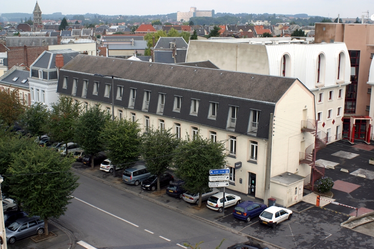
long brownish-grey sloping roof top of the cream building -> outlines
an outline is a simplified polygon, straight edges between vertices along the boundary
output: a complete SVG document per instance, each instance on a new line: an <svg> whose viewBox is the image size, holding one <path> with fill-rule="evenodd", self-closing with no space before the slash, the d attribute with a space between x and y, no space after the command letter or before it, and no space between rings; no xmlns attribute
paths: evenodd
<svg viewBox="0 0 374 249"><path fill-rule="evenodd" d="M61 71L116 75L125 80L233 96L269 104L277 103L297 80L288 77L129 61L84 54L75 56Z"/></svg>

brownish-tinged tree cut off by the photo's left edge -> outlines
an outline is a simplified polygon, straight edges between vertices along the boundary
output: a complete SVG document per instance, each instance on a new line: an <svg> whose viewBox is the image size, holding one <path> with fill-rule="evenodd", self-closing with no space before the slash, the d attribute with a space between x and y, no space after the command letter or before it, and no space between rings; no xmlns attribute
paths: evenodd
<svg viewBox="0 0 374 249"><path fill-rule="evenodd" d="M25 105L19 98L19 89L0 90L0 124L13 125L24 110Z"/></svg>

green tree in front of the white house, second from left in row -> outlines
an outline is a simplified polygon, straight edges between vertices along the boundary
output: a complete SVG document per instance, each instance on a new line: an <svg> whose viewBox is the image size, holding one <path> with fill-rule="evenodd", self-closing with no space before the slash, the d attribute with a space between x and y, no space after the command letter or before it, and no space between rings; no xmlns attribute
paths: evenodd
<svg viewBox="0 0 374 249"><path fill-rule="evenodd" d="M47 133L46 125L49 121L49 111L46 105L37 102L26 108L20 117L20 124L23 129L32 136L40 136Z"/></svg>

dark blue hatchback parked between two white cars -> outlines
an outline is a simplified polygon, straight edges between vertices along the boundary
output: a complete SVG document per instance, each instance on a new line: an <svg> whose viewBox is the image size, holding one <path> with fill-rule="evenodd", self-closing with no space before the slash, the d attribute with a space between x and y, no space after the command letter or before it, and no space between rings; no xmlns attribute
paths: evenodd
<svg viewBox="0 0 374 249"><path fill-rule="evenodd" d="M265 204L247 200L238 204L234 208L232 215L237 219L249 222L251 218L260 215L260 213L262 213L262 211L264 211L265 209L267 209L267 206Z"/></svg>

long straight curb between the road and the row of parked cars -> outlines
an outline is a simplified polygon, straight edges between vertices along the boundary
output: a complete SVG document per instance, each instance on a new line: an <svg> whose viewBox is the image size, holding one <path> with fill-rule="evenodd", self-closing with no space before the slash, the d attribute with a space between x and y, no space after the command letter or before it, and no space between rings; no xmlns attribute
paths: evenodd
<svg viewBox="0 0 374 249"><path fill-rule="evenodd" d="M105 184L108 184L108 185L110 185L111 187L115 187L115 188L120 189L120 190L122 190L122 191L125 191L125 192L127 192L127 193L129 193L129 194L132 194L132 195L134 195L134 196L138 196L138 197L140 197L140 198L146 199L146 200L151 201L151 202L153 202L153 203L155 203L155 204L157 204L157 205L163 206L163 207L165 207L165 208L168 208L168 209L173 210L173 211L178 212L178 213L182 213L182 214L187 215L187 216L189 216L189 217L191 217L191 218L194 218L194 219L196 219L196 220L203 221L203 222L205 222L205 223L207 223L207 224L210 224L210 225L215 226L215 227L217 227L217 228L223 229L223 230L225 230L225 231L230 231L230 232L232 232L232 233L235 233L235 234L238 234L238 235L241 235L241 236L245 236L245 237L248 237L248 238L251 238L251 239L257 240L257 241L259 241L259 242L261 242L261 243L263 243L263 244L270 245L270 246L272 246L272 247L274 247L274 248L277 248L277 249L285 249L285 248L282 248L282 247L280 247L280 246L277 246L277 245L274 245L274 244L272 244L272 243L269 243L269 242L267 242L267 241L263 241L263 240L258 239L258 238L256 238L256 237L253 237L253 236L251 236L251 235L249 235L249 234L243 233L243 232L241 232L241 231L236 231L236 230L234 230L234 229L231 229L231 228L225 227L225 226L223 226L223 225L220 225L220 224L214 223L214 222L212 222L212 221L210 221L210 220L207 220L207 219L205 219L205 218L202 218L202 217L196 216L196 215L194 215L194 214L187 213L187 212L184 212L184 211L182 211L182 210L176 209L176 208L174 208L174 207L168 206L168 205L166 205L166 204L164 204L164 203L162 203L162 202L156 201L156 200L154 200L154 199L152 199L152 198L150 198L150 197L148 197L148 196L142 196L142 195L140 195L140 194L138 194L138 193L135 193L135 192L130 191L130 190L128 190L128 189L122 188L121 186L113 185L111 182L108 182L108 181L103 180L103 179L101 179L101 178L94 177L94 176L92 176L92 175L90 175L90 174L87 174L87 173L85 173L85 172L81 172L81 171L79 171L79 170L77 170L77 169L75 169L75 168L72 168L72 170L75 171L76 173L79 173L79 174L84 175L84 176L86 176L86 177L89 177L89 178L92 178L92 179L95 179L95 180L98 180L98 181L104 182Z"/></svg>

